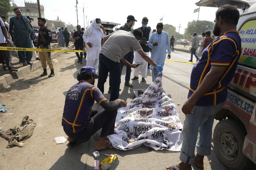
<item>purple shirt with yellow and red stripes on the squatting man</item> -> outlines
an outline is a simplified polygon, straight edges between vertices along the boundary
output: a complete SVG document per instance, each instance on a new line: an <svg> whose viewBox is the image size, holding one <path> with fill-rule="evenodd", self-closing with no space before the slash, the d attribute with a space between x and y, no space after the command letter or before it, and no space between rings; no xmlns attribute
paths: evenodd
<svg viewBox="0 0 256 170"><path fill-rule="evenodd" d="M66 95L62 116L63 128L71 133L82 131L91 118L91 108L95 100L99 104L107 100L98 87L85 80L72 86Z"/></svg>

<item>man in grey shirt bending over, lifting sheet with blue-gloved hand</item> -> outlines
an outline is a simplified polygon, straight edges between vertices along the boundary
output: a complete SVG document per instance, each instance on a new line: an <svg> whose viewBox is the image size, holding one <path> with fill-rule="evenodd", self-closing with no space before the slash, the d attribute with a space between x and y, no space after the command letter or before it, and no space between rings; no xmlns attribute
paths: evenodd
<svg viewBox="0 0 256 170"><path fill-rule="evenodd" d="M157 65L149 56L147 56L139 44L138 40L142 38L142 31L134 29L134 31L115 31L103 38L102 49L99 54L99 80L97 87L104 94L104 83L107 80L109 73L110 77L110 101L118 99L119 87L121 83L121 65L120 61L127 66L136 68L135 64L131 65L124 59L124 55L130 52L133 48L141 57L154 66L159 72L163 71L163 67Z"/></svg>

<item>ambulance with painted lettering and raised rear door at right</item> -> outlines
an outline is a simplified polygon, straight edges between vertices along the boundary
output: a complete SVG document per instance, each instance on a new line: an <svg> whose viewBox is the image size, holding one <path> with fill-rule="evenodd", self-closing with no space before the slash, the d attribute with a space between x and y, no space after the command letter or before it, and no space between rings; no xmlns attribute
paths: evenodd
<svg viewBox="0 0 256 170"><path fill-rule="evenodd" d="M240 19L237 31L242 53L236 73L227 86L225 106L215 119L215 152L228 169L256 169L256 1L201 0L197 6L237 5Z"/></svg>

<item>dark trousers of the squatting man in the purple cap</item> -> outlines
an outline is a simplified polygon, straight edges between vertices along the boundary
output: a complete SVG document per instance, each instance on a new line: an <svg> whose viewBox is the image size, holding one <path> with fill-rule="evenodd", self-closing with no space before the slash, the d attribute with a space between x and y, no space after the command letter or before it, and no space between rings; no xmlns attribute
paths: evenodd
<svg viewBox="0 0 256 170"><path fill-rule="evenodd" d="M71 133L64 129L66 135L73 139L77 143L83 143L89 141L91 136L95 134L99 129L101 130L101 137L114 134L115 119L117 117L117 109L113 111L102 110L95 114L91 119L86 122L85 129L78 133Z"/></svg>

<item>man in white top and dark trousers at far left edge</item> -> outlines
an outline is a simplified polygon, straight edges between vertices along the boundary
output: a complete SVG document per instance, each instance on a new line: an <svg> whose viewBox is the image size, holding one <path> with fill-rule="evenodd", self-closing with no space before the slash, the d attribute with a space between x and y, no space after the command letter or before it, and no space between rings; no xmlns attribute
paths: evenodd
<svg viewBox="0 0 256 170"><path fill-rule="evenodd" d="M8 32L5 28L5 23L3 22L2 18L0 18L0 25L0 46L7 47L7 44L10 43L10 37L8 37ZM8 67L9 72L18 71L11 66L11 56L8 50L0 50L0 63L5 63Z"/></svg>

